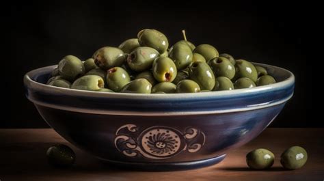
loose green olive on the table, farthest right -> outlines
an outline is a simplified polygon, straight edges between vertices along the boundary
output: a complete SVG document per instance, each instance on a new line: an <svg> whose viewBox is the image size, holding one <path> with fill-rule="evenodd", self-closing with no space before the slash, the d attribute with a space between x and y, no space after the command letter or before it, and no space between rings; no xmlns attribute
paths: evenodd
<svg viewBox="0 0 324 181"><path fill-rule="evenodd" d="M300 146L293 146L285 150L280 159L280 163L285 169L299 169L306 164L308 154Z"/></svg>

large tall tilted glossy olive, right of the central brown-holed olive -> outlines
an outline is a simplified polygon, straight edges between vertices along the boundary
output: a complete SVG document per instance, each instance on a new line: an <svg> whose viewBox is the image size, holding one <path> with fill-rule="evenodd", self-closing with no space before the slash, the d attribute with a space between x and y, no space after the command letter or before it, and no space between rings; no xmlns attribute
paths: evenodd
<svg viewBox="0 0 324 181"><path fill-rule="evenodd" d="M215 86L213 70L202 61L195 61L189 67L189 77L198 83L200 89L212 90Z"/></svg>

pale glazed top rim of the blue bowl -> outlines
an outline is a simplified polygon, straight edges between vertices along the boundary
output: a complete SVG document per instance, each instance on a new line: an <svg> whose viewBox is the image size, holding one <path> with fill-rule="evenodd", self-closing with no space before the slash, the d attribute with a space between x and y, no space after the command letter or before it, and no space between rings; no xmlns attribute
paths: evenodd
<svg viewBox="0 0 324 181"><path fill-rule="evenodd" d="M94 91L87 91L87 90L79 90L79 89L68 89L64 87L55 87L51 85L46 85L44 83L39 83L31 79L33 76L37 76L42 72L49 72L49 70L53 70L57 67L57 65L53 66L46 66L42 68L37 68L35 70L31 70L27 72L24 76L24 83L27 87L33 87L36 89L40 89L42 91L49 91L49 92L59 92L64 95L68 96L92 96L96 98L129 98L129 99L183 99L183 98L206 98L206 97L224 97L224 96L241 96L242 94L253 94L256 92L264 92L270 91L271 89L280 89L282 87L286 87L288 85L293 85L295 83L295 76L294 74L286 70L284 68L280 68L277 66L271 66L268 64L260 64L254 63L255 66L262 66L266 68L273 68L277 70L281 70L287 72L289 74L288 78L284 81L280 81L277 83L273 83L271 85L262 85L256 86L252 88L245 88L245 89L233 89L233 90L224 90L224 91L212 91L212 92L198 92L198 93L173 93L173 94L135 94L135 93L120 93L120 92L94 92Z"/></svg>

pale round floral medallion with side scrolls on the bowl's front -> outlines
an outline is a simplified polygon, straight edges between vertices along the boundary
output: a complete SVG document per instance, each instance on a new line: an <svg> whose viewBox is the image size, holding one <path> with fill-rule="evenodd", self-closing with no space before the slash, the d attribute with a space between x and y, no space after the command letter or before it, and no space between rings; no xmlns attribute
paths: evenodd
<svg viewBox="0 0 324 181"><path fill-rule="evenodd" d="M116 131L115 146L126 156L165 159L187 150L198 152L205 143L205 135L196 128L185 133L165 126L153 126L139 131L134 124L126 124Z"/></svg>

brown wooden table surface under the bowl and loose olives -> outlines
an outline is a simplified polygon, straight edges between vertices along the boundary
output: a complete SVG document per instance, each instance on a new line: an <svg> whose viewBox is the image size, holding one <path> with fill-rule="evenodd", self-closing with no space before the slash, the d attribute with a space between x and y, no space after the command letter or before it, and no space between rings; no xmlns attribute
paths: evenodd
<svg viewBox="0 0 324 181"><path fill-rule="evenodd" d="M188 171L146 172L117 169L67 143L52 129L0 129L0 180L324 180L324 128L267 128L253 141L228 152L217 165ZM54 143L70 145L77 161L68 169L46 162L46 150ZM280 154L292 145L308 151L308 163L294 171L280 165ZM275 154L267 171L247 168L245 155L256 148Z"/></svg>

